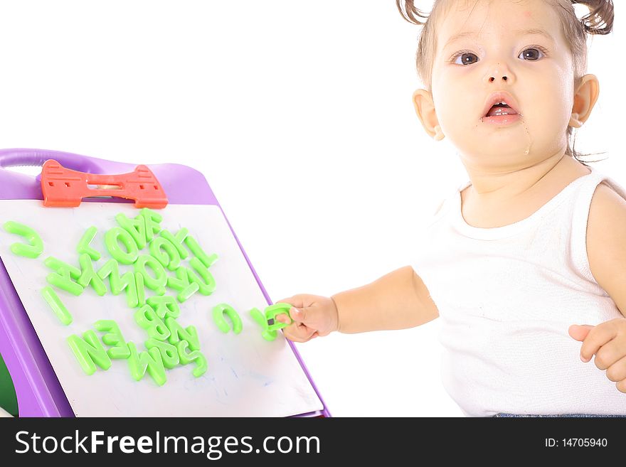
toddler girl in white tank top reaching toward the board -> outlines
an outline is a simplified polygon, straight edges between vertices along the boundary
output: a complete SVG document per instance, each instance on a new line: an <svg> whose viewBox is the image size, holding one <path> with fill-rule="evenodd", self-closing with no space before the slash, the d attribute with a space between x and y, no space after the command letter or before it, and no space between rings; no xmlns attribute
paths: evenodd
<svg viewBox="0 0 626 467"><path fill-rule="evenodd" d="M440 317L443 383L465 415L626 416L626 190L569 144L599 93L586 33L610 32L612 1L436 0L428 17L397 4L423 24L415 111L435 140L450 138L470 181L410 266L330 298L280 300L295 307L285 336Z"/></svg>

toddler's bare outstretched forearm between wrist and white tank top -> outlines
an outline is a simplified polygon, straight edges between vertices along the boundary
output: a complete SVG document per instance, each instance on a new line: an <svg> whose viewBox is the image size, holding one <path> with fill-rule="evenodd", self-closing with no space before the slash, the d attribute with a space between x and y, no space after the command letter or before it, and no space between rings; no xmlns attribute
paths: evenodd
<svg viewBox="0 0 626 467"><path fill-rule="evenodd" d="M405 329L439 316L422 279L405 266L356 289L331 296L341 333Z"/></svg>

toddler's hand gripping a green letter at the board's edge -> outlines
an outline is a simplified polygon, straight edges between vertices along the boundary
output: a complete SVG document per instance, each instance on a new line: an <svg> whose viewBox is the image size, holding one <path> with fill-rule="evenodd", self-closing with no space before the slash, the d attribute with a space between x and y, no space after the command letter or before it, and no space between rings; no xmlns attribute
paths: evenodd
<svg viewBox="0 0 626 467"><path fill-rule="evenodd" d="M319 295L298 294L288 299L276 301L277 304L290 304L289 314L293 319L290 326L282 329L285 337L295 342L307 342L318 336L327 336L337 330L337 308L332 299ZM277 321L290 323L285 313L276 315Z"/></svg>

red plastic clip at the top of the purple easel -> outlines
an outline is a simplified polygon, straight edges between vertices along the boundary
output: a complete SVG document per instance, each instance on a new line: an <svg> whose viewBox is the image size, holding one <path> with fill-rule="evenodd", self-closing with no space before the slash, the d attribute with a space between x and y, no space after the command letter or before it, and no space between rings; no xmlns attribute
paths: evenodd
<svg viewBox="0 0 626 467"><path fill-rule="evenodd" d="M97 188L90 188L92 185ZM41 169L41 191L43 205L48 207L75 208L83 198L90 196L131 199L136 208L161 209L167 205L161 183L147 166L137 166L133 172L118 175L97 175L73 171L48 159Z"/></svg>

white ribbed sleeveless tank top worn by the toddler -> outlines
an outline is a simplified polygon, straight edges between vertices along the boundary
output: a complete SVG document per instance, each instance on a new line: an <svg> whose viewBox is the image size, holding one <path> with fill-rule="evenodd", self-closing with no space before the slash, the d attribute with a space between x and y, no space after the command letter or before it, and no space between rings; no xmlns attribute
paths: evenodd
<svg viewBox="0 0 626 467"><path fill-rule="evenodd" d="M424 232L413 269L439 309L443 385L467 417L626 415L626 394L568 334L622 317L591 274L586 230L601 181L626 191L590 170L529 218L494 228L463 219L465 183Z"/></svg>

